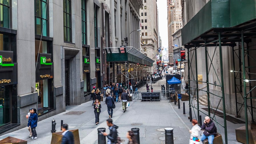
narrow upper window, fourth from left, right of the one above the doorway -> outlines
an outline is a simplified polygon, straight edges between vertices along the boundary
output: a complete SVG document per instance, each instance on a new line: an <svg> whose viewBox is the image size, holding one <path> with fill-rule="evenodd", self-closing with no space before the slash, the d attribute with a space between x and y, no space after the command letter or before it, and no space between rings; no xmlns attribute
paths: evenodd
<svg viewBox="0 0 256 144"><path fill-rule="evenodd" d="M82 44L87 44L86 0L81 0L81 12L82 12Z"/></svg>

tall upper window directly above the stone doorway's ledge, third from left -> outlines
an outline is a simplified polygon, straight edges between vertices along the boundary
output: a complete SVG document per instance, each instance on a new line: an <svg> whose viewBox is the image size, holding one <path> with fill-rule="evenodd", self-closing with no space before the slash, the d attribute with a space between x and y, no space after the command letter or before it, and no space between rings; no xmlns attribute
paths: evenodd
<svg viewBox="0 0 256 144"><path fill-rule="evenodd" d="M71 0L63 0L63 25L64 25L64 41L72 41L71 27Z"/></svg>

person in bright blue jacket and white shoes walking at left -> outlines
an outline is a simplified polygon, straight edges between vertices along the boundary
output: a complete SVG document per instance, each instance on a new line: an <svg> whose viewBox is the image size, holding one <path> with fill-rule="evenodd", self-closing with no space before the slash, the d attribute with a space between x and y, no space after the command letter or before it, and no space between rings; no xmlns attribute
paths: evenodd
<svg viewBox="0 0 256 144"><path fill-rule="evenodd" d="M37 109L33 108L31 110L31 114L29 116L29 121L28 121L28 127L31 127L31 131L32 131L32 137L31 139L37 139L37 131L36 131L36 127L37 127Z"/></svg>

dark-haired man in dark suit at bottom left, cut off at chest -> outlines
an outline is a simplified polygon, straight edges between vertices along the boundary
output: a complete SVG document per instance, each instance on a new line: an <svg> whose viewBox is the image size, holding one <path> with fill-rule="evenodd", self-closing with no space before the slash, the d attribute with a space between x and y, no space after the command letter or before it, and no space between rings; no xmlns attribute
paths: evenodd
<svg viewBox="0 0 256 144"><path fill-rule="evenodd" d="M74 144L74 135L71 131L68 131L68 124L63 124L61 130L63 131L61 144Z"/></svg>

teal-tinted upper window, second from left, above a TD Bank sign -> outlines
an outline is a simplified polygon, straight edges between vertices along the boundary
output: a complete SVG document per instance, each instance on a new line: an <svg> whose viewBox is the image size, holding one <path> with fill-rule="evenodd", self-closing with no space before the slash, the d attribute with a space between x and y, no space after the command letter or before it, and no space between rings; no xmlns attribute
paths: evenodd
<svg viewBox="0 0 256 144"><path fill-rule="evenodd" d="M48 7L46 1L35 0L35 34L48 36Z"/></svg>

